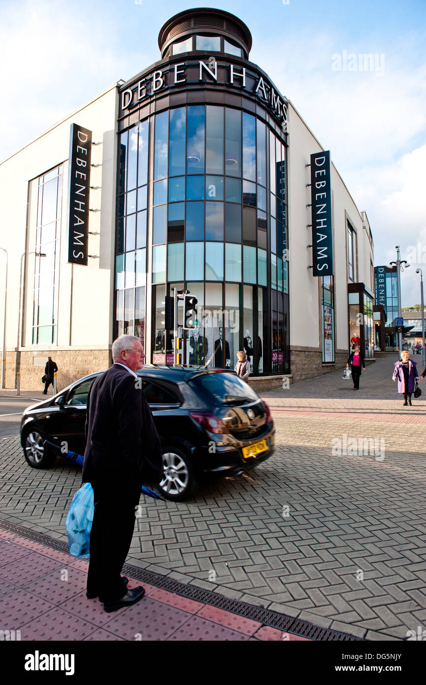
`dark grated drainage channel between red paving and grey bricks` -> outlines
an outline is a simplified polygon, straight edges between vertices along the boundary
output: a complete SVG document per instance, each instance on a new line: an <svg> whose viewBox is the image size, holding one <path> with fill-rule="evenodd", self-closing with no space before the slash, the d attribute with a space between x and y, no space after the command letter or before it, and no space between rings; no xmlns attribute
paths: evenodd
<svg viewBox="0 0 426 685"><path fill-rule="evenodd" d="M45 533L29 530L22 525L12 523L12 521L3 521L0 519L0 528L16 533L16 535L32 540L35 543L40 543L40 545L51 547L51 549L55 549L56 551L69 553L68 544L62 540L55 540L55 538L51 538ZM308 638L309 640L318 640L321 642L324 640L337 640L340 642L364 641L362 638L348 635L339 632L338 630L331 630L331 628L322 628L313 623L309 623L308 621L301 621L292 616L286 616L286 614L279 614L277 611L271 611L261 606L253 606L253 604L248 604L247 602L239 601L238 599L229 599L228 597L223 597L223 595L212 592L212 590L205 590L204 588L181 583L173 578L168 578L166 575L155 573L155 571L140 569L138 566L124 564L123 572L135 580L140 580L140 582L153 585L162 590L168 590L168 592L174 593L175 595L193 599L194 601L199 601L203 604L210 604L210 606L229 611L232 614L238 614L238 616L242 616L245 619L258 621L259 623L262 623L262 625L293 633L303 638Z"/></svg>

